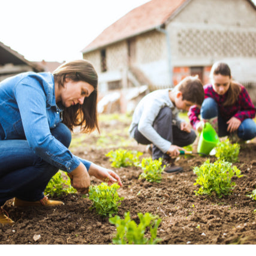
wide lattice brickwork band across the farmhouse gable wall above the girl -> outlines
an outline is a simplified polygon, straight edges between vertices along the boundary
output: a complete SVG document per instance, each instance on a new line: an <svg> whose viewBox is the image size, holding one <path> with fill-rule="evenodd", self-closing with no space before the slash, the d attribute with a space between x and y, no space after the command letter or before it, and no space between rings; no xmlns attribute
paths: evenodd
<svg viewBox="0 0 256 256"><path fill-rule="evenodd" d="M185 57L256 57L256 32L181 29L178 53Z"/></svg>

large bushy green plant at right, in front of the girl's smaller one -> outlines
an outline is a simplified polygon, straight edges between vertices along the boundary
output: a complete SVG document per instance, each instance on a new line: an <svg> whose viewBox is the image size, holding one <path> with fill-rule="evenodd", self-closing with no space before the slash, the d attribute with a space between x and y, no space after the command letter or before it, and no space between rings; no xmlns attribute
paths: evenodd
<svg viewBox="0 0 256 256"><path fill-rule="evenodd" d="M212 195L216 193L218 197L229 195L233 191L235 182L231 182L231 178L236 174L242 177L240 170L236 166L232 166L231 162L215 161L210 163L207 159L200 167L194 167L193 171L197 174L194 185L200 185L196 195Z"/></svg>

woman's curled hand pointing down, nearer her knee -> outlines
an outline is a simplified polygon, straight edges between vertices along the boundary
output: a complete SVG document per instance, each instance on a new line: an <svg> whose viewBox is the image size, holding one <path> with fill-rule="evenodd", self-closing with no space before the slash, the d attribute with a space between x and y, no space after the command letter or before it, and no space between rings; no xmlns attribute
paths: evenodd
<svg viewBox="0 0 256 256"><path fill-rule="evenodd" d="M86 194L89 191L89 186L91 185L90 176L85 165L80 162L79 166L68 173L71 179L71 185L76 188L81 194Z"/></svg>

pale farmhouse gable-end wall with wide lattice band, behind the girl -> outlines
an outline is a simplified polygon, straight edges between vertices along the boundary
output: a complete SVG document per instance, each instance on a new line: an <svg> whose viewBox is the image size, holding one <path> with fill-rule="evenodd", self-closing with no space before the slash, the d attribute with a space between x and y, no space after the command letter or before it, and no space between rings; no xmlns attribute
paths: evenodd
<svg viewBox="0 0 256 256"><path fill-rule="evenodd" d="M226 61L237 80L255 82L255 24L256 11L248 1L192 0L167 26L172 64Z"/></svg>

